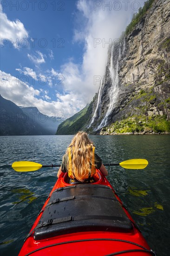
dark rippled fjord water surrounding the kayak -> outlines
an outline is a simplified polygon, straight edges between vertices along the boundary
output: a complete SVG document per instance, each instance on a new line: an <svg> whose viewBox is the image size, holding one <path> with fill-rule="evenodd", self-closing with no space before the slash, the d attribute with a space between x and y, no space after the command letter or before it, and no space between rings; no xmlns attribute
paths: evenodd
<svg viewBox="0 0 170 256"><path fill-rule="evenodd" d="M104 163L145 158L144 170L109 167L108 179L157 256L170 255L170 136L90 136ZM59 164L71 135L2 136L0 253L17 256L57 179L57 168L17 173L15 161Z"/></svg>

